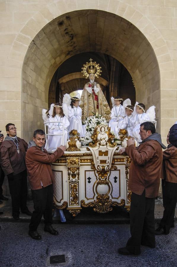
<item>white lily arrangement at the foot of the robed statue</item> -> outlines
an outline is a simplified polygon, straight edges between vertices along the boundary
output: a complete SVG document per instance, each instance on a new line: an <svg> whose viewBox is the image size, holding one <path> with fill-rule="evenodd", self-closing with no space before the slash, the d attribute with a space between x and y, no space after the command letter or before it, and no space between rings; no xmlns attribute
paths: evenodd
<svg viewBox="0 0 177 267"><path fill-rule="evenodd" d="M94 129L97 125L99 124L108 125L108 123L106 122L106 119L102 115L98 114L98 112L94 114L93 116L88 117L87 120L85 120L84 124L86 125L85 126L86 134L85 134L85 137L80 138L81 143L84 146L88 146L88 144L93 141L91 139L91 135L93 135Z"/></svg>

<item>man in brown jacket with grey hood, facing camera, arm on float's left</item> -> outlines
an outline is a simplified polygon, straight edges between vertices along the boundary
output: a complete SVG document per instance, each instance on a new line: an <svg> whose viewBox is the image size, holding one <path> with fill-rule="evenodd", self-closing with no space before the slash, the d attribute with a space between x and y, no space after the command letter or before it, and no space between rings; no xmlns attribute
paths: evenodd
<svg viewBox="0 0 177 267"><path fill-rule="evenodd" d="M26 152L26 167L28 171L28 181L34 202L34 211L29 224L29 235L32 239L40 240L41 235L37 232L37 227L44 216L44 231L52 235L58 235L52 227L52 207L53 207L53 174L50 166L57 158L60 158L65 146L60 146L51 155L43 148L45 134L43 130L34 131L33 144Z"/></svg>

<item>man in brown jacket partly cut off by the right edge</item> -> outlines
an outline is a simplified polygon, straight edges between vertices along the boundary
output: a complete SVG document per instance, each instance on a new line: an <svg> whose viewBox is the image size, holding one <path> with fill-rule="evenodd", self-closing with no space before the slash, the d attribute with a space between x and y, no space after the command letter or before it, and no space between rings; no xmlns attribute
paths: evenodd
<svg viewBox="0 0 177 267"><path fill-rule="evenodd" d="M170 228L174 227L174 215L177 203L177 124L170 128L167 136L167 144L167 149L163 151L161 172L164 212L160 226L155 231L156 235L168 235Z"/></svg>

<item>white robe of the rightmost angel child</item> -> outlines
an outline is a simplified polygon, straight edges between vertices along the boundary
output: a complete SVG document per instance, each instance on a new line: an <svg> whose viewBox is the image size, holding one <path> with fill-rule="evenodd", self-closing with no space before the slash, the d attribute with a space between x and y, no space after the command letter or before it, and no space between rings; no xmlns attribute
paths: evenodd
<svg viewBox="0 0 177 267"><path fill-rule="evenodd" d="M135 116L135 125L134 125L134 128L132 130L132 134L138 143L141 142L141 137L139 134L140 124L145 122L145 121L149 121L149 116L146 113L137 114Z"/></svg>

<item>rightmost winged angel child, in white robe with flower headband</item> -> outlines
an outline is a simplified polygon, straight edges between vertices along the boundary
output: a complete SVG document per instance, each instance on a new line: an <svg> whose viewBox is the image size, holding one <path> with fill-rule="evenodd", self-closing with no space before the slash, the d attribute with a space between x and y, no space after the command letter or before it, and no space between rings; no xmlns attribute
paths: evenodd
<svg viewBox="0 0 177 267"><path fill-rule="evenodd" d="M140 124L145 121L154 121L155 120L155 106L151 106L145 112L145 105L142 103L135 103L134 111L136 112L135 115L135 124L132 130L132 136L136 139L139 143L141 142L141 137L139 134L140 131Z"/></svg>

